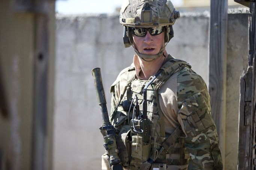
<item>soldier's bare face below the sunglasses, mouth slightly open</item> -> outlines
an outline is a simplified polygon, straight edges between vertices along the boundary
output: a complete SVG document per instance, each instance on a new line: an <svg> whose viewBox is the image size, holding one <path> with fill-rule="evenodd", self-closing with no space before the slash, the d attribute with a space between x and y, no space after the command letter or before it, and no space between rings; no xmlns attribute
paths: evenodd
<svg viewBox="0 0 256 170"><path fill-rule="evenodd" d="M147 31L144 37L133 35L133 43L139 53L156 55L164 46L164 32L153 36Z"/></svg>

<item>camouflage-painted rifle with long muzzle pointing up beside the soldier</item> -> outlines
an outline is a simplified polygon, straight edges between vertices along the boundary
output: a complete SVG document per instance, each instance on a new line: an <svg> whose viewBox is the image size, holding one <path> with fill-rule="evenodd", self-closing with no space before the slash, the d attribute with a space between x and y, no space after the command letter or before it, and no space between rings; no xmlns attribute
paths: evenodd
<svg viewBox="0 0 256 170"><path fill-rule="evenodd" d="M105 92L101 79L101 69L93 68L92 76L94 80L98 103L101 108L102 125L99 128L99 130L101 131L101 134L104 137L103 146L107 151L108 163L112 170L122 170L123 168L120 164L120 158L118 155L118 149L116 144L116 130L114 126L111 125L108 118L107 102L105 99Z"/></svg>

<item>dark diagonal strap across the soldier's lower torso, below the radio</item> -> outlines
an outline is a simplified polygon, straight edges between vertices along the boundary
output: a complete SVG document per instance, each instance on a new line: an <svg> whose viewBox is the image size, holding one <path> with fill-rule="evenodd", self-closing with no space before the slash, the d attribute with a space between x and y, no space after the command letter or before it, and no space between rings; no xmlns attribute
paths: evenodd
<svg viewBox="0 0 256 170"><path fill-rule="evenodd" d="M172 133L172 135L170 135L167 139L164 140L164 142L162 143L162 148L160 149L160 151L154 152L151 157L148 159L148 161L146 161L145 163L143 163L140 166L139 170L149 170L149 168L151 167L151 164L154 163L154 161L157 159L158 155L161 154L161 152L163 152L164 150L168 150L170 148L170 146L172 146L175 141L178 139L179 136L181 136L181 128L180 126L178 126L175 131ZM155 149L157 150L157 149Z"/></svg>

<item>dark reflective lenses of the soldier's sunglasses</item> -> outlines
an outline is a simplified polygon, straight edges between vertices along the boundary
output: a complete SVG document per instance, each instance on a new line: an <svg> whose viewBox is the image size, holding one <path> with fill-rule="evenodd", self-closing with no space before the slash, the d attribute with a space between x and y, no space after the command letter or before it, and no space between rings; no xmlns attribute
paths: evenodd
<svg viewBox="0 0 256 170"><path fill-rule="evenodd" d="M158 35L164 31L163 27L152 27L152 28L131 28L132 34L137 36L145 36L147 31L149 30L149 33L151 35Z"/></svg>

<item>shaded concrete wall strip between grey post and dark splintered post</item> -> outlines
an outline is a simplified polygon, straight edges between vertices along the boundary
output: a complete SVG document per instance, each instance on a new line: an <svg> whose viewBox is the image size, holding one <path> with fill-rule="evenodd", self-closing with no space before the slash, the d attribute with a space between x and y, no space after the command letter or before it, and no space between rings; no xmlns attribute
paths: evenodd
<svg viewBox="0 0 256 170"><path fill-rule="evenodd" d="M248 14L229 14L228 20L225 164L233 170L238 160L240 76L248 64Z"/></svg>

